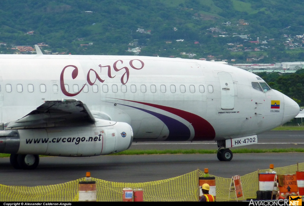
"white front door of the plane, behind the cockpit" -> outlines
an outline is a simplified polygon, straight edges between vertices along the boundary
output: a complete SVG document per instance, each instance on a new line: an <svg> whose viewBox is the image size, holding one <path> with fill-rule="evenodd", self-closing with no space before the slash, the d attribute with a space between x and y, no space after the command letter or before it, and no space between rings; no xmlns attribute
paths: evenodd
<svg viewBox="0 0 304 206"><path fill-rule="evenodd" d="M222 110L234 109L234 86L232 76L229 73L218 73L221 85L221 108Z"/></svg>

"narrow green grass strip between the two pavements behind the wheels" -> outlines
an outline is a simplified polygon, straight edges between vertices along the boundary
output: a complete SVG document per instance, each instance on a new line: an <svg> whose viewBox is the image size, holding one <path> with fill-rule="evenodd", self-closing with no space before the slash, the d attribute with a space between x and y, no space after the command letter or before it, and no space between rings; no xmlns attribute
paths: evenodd
<svg viewBox="0 0 304 206"><path fill-rule="evenodd" d="M284 153L284 152L304 152L302 148L288 148L288 149L231 149L234 154L237 153ZM216 154L215 149L166 149L166 150L137 150L129 149L123 152L118 152L111 155L164 155L164 154ZM0 153L0 157L9 157L10 154ZM39 155L40 157L46 157L46 155Z"/></svg>

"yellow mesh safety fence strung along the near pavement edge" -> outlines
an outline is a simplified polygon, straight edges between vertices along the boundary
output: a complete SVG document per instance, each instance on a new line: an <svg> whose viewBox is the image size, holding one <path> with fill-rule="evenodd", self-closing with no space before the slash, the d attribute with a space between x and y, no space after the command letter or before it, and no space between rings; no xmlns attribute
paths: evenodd
<svg viewBox="0 0 304 206"><path fill-rule="evenodd" d="M304 163L299 163L299 171L304 171ZM297 165L274 168L277 174L295 174ZM269 169L260 170L267 172ZM96 181L97 201L122 201L123 188L143 189L144 201L198 201L198 177L203 172L195 170L185 175L159 181L143 183L120 183L92 178ZM237 175L237 174L235 174ZM210 175L213 176L213 175ZM215 176L216 177L216 176ZM0 185L0 201L78 201L78 181L58 185L25 187ZM241 176L244 198L256 198L258 172ZM216 177L216 200L228 201L231 178ZM235 192L230 200L235 200Z"/></svg>

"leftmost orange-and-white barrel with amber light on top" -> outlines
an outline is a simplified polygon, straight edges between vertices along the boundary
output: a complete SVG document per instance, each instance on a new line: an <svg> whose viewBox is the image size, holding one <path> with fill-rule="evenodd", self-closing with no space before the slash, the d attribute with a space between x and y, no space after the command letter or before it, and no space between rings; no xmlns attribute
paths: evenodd
<svg viewBox="0 0 304 206"><path fill-rule="evenodd" d="M96 182L91 181L91 173L87 172L85 181L78 182L78 201L96 202Z"/></svg>

